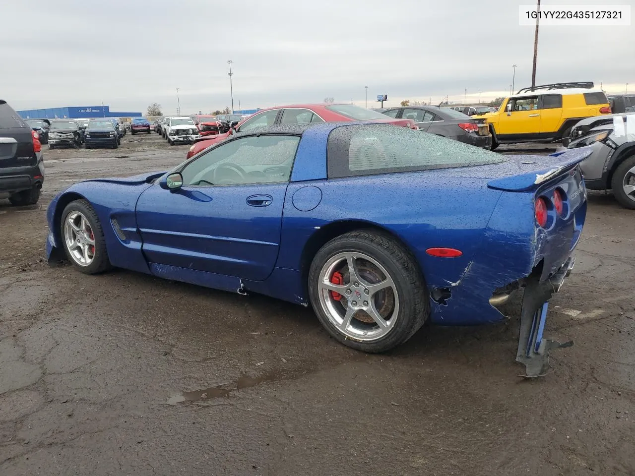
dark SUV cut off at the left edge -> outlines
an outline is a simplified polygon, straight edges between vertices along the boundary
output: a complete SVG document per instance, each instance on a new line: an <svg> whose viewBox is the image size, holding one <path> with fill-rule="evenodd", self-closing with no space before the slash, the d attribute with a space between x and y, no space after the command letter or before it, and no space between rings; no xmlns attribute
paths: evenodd
<svg viewBox="0 0 635 476"><path fill-rule="evenodd" d="M0 100L0 194L13 205L32 205L44 182L42 145L37 132Z"/></svg>

